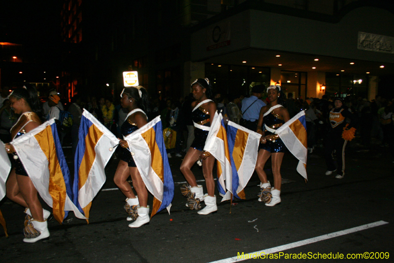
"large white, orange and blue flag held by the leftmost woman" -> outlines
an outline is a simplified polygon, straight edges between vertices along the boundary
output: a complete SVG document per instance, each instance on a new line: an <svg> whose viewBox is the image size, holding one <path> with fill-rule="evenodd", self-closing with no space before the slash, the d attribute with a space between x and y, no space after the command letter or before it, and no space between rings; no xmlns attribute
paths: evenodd
<svg viewBox="0 0 394 263"><path fill-rule="evenodd" d="M70 171L60 144L55 120L51 119L14 139L11 144L42 199L62 223L68 211L86 219L72 202Z"/></svg>

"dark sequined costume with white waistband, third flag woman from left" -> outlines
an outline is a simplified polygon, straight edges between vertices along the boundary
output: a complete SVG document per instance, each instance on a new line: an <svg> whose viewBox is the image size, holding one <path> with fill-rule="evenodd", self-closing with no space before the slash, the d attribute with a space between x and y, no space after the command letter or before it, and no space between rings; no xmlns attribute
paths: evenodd
<svg viewBox="0 0 394 263"><path fill-rule="evenodd" d="M190 147L203 150L208 132L210 130L211 121L209 119L209 112L201 107L201 105L210 102L212 100L204 100L197 104L192 111L192 120L194 125L194 136L195 139Z"/></svg>

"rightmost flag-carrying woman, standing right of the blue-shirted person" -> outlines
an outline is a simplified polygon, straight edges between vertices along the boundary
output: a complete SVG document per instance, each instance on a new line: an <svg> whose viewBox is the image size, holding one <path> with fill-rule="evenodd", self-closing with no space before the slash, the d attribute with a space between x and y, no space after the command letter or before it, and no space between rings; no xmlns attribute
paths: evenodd
<svg viewBox="0 0 394 263"><path fill-rule="evenodd" d="M267 88L267 95L270 103L264 106L260 111L257 132L262 135L260 139L259 153L257 155L256 172L261 181L259 201L263 201L266 206L279 204L282 176L280 166L282 165L283 155L286 146L275 134L274 130L278 129L290 119L289 113L281 104L285 99L279 85L271 85ZM263 129L262 129L263 128ZM274 187L271 188L267 175L264 172L264 165L269 156L272 157L272 174L274 177Z"/></svg>

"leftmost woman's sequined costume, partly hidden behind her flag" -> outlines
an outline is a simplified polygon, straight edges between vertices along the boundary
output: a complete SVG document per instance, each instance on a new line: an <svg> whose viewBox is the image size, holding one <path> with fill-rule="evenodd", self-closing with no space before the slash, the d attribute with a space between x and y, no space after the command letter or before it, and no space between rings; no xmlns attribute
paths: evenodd
<svg viewBox="0 0 394 263"><path fill-rule="evenodd" d="M37 113L33 113L33 112L23 113L10 130L12 140L26 134L25 126L32 121L37 122L39 125L41 124L41 120L38 117ZM14 155L16 155L16 153L14 153ZM15 160L15 173L19 175L28 176L25 167L23 167L21 159L19 158Z"/></svg>

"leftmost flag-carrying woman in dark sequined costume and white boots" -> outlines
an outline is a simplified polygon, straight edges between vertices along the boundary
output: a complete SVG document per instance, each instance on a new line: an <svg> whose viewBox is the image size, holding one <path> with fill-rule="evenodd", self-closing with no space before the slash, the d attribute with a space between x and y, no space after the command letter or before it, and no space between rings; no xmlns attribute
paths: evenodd
<svg viewBox="0 0 394 263"><path fill-rule="evenodd" d="M41 108L38 101L37 90L30 84L23 88L17 88L9 96L11 108L16 114L21 114L18 121L12 126L11 138L14 140L30 132L41 124L38 114ZM38 113L38 114L37 114ZM15 149L11 144L5 144L5 150L16 156ZM7 197L17 204L25 207L25 238L24 242L34 243L40 239L49 237L47 219L50 212L43 209L38 199L37 189L28 176L20 159L15 160L6 183Z"/></svg>

